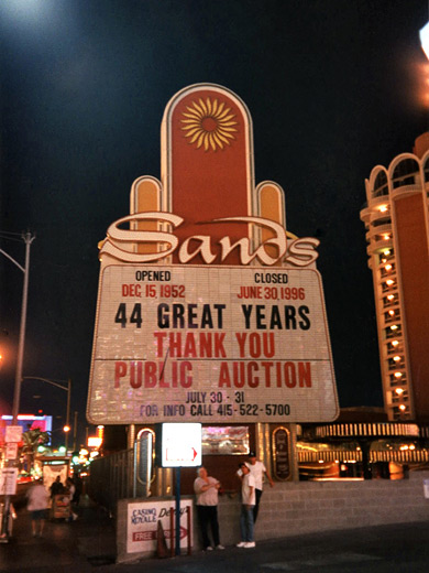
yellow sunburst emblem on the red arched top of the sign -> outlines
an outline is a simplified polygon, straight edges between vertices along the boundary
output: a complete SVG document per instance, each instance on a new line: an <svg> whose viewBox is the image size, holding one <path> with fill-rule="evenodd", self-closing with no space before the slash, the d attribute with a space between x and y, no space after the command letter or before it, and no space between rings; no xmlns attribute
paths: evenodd
<svg viewBox="0 0 429 573"><path fill-rule="evenodd" d="M201 98L193 101L191 106L186 106L187 112L184 111L182 119L183 131L185 137L190 138L189 143L197 144L197 148L204 147L206 151L218 148L223 149L230 145L235 139L237 132L235 116L231 112L231 108L226 107L224 102L217 99L212 101L209 97L206 100Z"/></svg>

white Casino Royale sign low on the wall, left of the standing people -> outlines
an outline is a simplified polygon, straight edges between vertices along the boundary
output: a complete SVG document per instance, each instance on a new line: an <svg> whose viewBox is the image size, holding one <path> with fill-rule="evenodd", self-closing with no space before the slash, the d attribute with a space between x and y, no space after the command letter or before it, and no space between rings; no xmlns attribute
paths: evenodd
<svg viewBox="0 0 429 573"><path fill-rule="evenodd" d="M190 529L188 528L188 511L190 515ZM182 499L180 501L180 548L188 547L188 537L193 545L193 500ZM156 532L158 521L163 527L167 547L170 548L172 516L173 528L176 527L174 501L141 501L129 504L127 519L127 552L138 553L156 551ZM176 532L173 531L173 544L175 543Z"/></svg>

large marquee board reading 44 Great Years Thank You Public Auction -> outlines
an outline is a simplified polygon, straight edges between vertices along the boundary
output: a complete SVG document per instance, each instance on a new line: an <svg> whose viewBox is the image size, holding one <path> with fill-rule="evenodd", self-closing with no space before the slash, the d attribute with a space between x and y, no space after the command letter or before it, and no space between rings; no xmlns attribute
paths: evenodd
<svg viewBox="0 0 429 573"><path fill-rule="evenodd" d="M131 263L103 270L91 423L322 422L337 414L316 270Z"/></svg>

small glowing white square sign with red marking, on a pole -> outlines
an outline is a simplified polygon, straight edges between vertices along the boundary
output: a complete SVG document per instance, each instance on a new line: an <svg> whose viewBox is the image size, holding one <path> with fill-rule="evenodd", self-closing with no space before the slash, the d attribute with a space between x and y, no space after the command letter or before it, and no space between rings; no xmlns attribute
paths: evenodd
<svg viewBox="0 0 429 573"><path fill-rule="evenodd" d="M163 467L201 465L201 424L163 424L161 464Z"/></svg>

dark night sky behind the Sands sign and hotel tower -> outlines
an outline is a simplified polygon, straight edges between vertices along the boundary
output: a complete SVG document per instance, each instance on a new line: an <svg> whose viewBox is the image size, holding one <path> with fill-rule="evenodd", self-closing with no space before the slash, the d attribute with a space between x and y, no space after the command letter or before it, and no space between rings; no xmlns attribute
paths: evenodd
<svg viewBox="0 0 429 573"><path fill-rule="evenodd" d="M283 186L288 229L321 240L340 406L382 406L360 209L372 167L427 129L427 20L426 0L2 0L0 230L36 234L24 376L72 378L85 428L97 244L132 182L160 177L169 98L208 82L250 108L256 183ZM23 262L22 242L0 248ZM10 411L22 273L1 255L0 279ZM59 390L24 385L21 411L64 412Z"/></svg>

